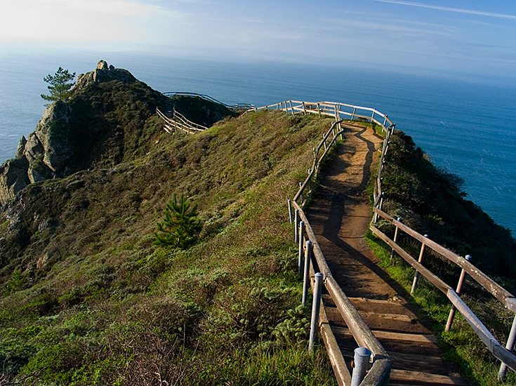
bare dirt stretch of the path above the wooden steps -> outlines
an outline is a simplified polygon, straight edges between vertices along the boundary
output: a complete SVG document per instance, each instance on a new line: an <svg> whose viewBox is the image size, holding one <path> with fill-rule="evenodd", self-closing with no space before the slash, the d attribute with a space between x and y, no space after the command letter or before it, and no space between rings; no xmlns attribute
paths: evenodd
<svg viewBox="0 0 516 386"><path fill-rule="evenodd" d="M387 300L397 291L374 264L364 233L371 220L366 185L378 162L381 138L371 129L346 125L344 144L325 171L308 218L329 267L348 297Z"/></svg>

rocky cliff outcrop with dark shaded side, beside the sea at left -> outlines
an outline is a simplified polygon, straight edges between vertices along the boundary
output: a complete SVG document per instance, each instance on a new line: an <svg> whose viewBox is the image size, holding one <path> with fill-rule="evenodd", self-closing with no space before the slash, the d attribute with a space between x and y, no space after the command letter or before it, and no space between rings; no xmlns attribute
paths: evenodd
<svg viewBox="0 0 516 386"><path fill-rule="evenodd" d="M136 149L145 151L145 122L165 104L164 95L101 60L79 75L69 100L45 110L36 130L21 138L15 158L0 166L0 204L30 183L112 166Z"/></svg>

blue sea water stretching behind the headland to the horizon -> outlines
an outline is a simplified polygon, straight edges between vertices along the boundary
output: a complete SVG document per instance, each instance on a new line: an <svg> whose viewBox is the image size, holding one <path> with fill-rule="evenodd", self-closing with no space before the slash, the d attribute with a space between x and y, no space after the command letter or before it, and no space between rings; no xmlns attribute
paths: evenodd
<svg viewBox="0 0 516 386"><path fill-rule="evenodd" d="M468 198L516 230L516 86L374 69L272 62L213 62L145 53L0 52L0 161L44 111L42 80L58 67L84 73L100 59L161 92L190 91L222 102L268 105L328 100L374 107L411 135L437 166L460 175Z"/></svg>

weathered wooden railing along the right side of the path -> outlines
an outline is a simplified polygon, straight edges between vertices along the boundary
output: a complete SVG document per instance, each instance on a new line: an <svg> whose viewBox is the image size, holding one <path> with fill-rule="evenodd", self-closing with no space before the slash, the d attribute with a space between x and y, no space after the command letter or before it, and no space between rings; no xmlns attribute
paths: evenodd
<svg viewBox="0 0 516 386"><path fill-rule="evenodd" d="M482 324L482 321L478 319L475 313L472 312L472 310L470 310L468 305L466 305L465 302L458 295L458 293L460 293L460 288L462 284L459 284L457 287L457 291L454 291L454 289L451 288L448 284L444 283L442 279L439 279L439 277L430 272L430 270L427 269L421 263L423 257L422 251L424 248L430 248L437 255L442 256L442 258L444 258L445 260L449 260L450 262L453 262L455 265L458 265L458 267L460 267L463 270L463 274L461 275L461 277L463 277L464 274L469 274L472 279L477 281L477 283L480 286L482 286L486 291L491 293L491 295L493 295L494 298L501 302L501 304L504 305L505 308L512 312L516 312L515 296L512 295L512 293L505 290L505 288L500 286L498 283L496 283L496 281L488 277L487 274L484 274L484 272L480 271L477 267L475 267L475 265L472 265L472 263L470 263L466 258L457 255L449 249L444 248L443 246L437 244L435 241L432 241L428 237L425 237L422 234L416 232L414 229L407 227L401 221L395 220L395 218L392 218L390 215L381 210L383 206L383 199L385 198L382 190L382 173L385 167L388 167L385 161L385 155L388 152L390 144L390 135L392 135L394 129L395 125L392 124L392 126L390 126L390 128L388 128L388 130L386 131L385 140L383 142L381 160L378 166L378 177L376 178L376 184L374 188L375 207L373 208L373 220L371 221L371 225L369 228L371 229L373 234L376 234L377 237L382 239L385 242L385 244L388 244L388 246L392 248L393 253L396 252L404 260L406 260L406 262L408 262L412 267L414 267L414 269L416 269L416 272L418 272L418 274L423 275L423 277L428 279L428 281L430 281L431 284L439 288L439 290L442 291L447 298L449 298L453 306L452 311L450 312L450 317L446 328L448 329L451 326L451 321L453 321L455 309L461 312L465 320L468 321L468 324L470 324L470 326L473 328L475 333L477 333L479 338L482 339L482 342L484 342L484 344L487 346L489 351L491 351L494 357L500 359L503 362L498 373L498 378L502 380L503 378L505 378L506 366L511 368L513 371L516 371L516 356L512 354L512 350L514 350L516 340L516 316L512 324L512 329L508 337L507 345L504 348L498 342L498 340L494 338L494 335L489 331L489 329L486 326L484 326L484 324ZM383 232L381 232L380 229L378 229L378 227L376 227L376 222L378 221L379 217L383 218L384 220L395 226L395 235L393 239L390 239L390 237L385 235ZM413 258L397 243L400 231L404 232L412 239L415 239L421 243L421 253L417 260L416 258ZM416 279L414 283L416 283ZM461 283L461 281L459 281L459 283ZM415 288L415 286L413 286L413 288Z"/></svg>

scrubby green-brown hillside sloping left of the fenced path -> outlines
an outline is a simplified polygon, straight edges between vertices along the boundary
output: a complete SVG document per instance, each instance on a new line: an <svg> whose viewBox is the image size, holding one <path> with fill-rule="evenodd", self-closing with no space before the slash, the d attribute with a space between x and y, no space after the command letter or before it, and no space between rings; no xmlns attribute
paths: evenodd
<svg viewBox="0 0 516 386"><path fill-rule="evenodd" d="M329 119L259 112L24 189L5 206L0 359L26 385L333 385L307 354L286 199ZM203 229L154 246L173 193Z"/></svg>

